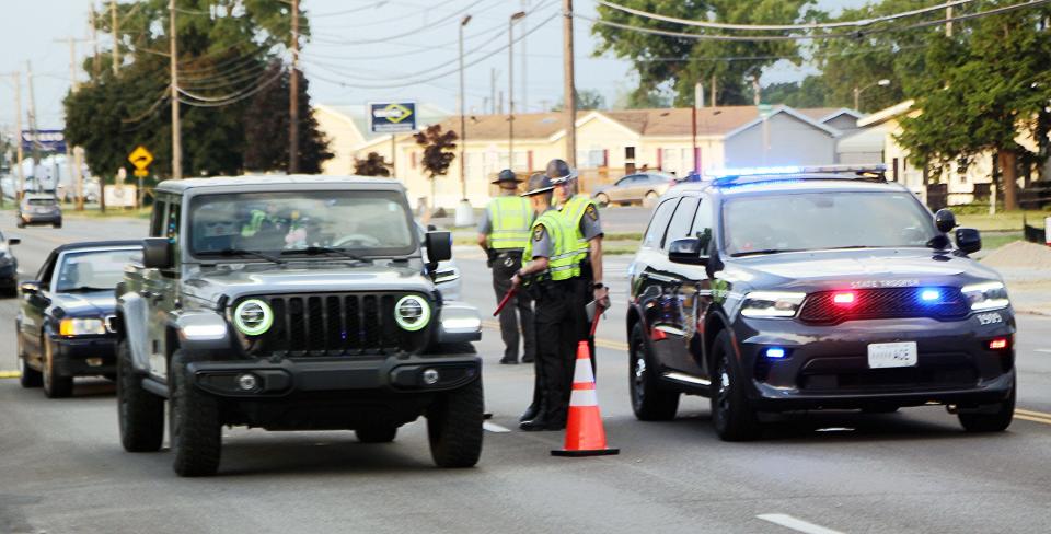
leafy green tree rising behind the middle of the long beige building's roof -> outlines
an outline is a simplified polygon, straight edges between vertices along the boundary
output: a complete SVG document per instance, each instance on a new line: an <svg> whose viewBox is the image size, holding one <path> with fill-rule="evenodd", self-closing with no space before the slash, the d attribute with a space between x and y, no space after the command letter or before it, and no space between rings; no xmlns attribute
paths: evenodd
<svg viewBox="0 0 1051 534"><path fill-rule="evenodd" d="M816 16L809 11L801 13L805 7L813 3L812 0L621 0L617 3L680 19L702 16L714 22L739 24L783 24L798 20L800 15ZM628 14L602 4L598 7L598 13L607 22L691 33L678 24ZM596 55L612 51L632 60L639 77L635 90L639 101L670 88L675 94L674 105L693 105L694 84L702 82L705 90L711 91L712 80L715 80L719 104L750 104L746 88L752 77L761 76L763 69L778 58L796 65L801 62L799 47L793 40L701 40L603 24L593 25L591 32L599 38ZM758 59L725 60L727 57Z"/></svg>

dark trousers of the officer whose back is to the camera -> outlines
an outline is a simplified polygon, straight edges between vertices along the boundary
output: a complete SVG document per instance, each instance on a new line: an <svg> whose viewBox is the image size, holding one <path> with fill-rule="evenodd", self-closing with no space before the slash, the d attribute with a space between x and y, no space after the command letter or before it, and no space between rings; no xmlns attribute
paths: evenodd
<svg viewBox="0 0 1051 534"><path fill-rule="evenodd" d="M522 266L520 252L500 253L493 260L493 291L496 292L496 302L504 300L504 295L511 289L511 277ZM524 357L532 360L536 357L536 336L533 333L533 299L524 291L519 291L504 310L500 310L500 337L504 339L504 358L518 360L519 325L521 325L524 345Z"/></svg>

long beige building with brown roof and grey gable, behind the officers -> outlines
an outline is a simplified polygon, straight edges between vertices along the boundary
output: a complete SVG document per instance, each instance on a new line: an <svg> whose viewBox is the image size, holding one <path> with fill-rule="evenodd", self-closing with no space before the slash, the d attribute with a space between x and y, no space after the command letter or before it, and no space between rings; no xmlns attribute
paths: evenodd
<svg viewBox="0 0 1051 534"><path fill-rule="evenodd" d="M363 106L360 112L363 115ZM543 170L554 158L565 156L566 128L561 113L515 117L513 161L509 153L509 117L472 115L465 120L463 174L458 159L447 175L431 184L420 165L423 148L412 136L396 136L392 149L389 135L356 137L361 126L354 117L339 117L337 108L319 106L315 113L322 129L335 141L337 156L326 172L348 172L355 158L363 159L369 152L390 160L393 150L395 176L405 183L414 205L429 199L434 185L436 206L455 206L463 198L464 187L471 204L482 206L493 193L492 177L500 170L511 167L527 175ZM694 159L702 172L725 166L832 163L835 140L842 136L835 126L853 130L857 114L786 106L761 114L757 106L723 106L697 109L695 128L693 119L692 108L580 112L576 155L585 190L643 170L684 176L694 169ZM439 124L443 130L460 130L458 116L447 116Z"/></svg>

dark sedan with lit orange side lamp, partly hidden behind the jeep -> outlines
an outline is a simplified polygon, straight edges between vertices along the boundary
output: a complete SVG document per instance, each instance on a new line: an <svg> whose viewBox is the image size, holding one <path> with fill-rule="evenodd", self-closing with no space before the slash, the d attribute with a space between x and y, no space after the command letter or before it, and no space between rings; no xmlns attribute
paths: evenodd
<svg viewBox="0 0 1051 534"><path fill-rule="evenodd" d="M23 387L67 397L74 376L116 373L114 289L138 262L140 241L74 243L51 251L33 281L22 282L15 317Z"/></svg>

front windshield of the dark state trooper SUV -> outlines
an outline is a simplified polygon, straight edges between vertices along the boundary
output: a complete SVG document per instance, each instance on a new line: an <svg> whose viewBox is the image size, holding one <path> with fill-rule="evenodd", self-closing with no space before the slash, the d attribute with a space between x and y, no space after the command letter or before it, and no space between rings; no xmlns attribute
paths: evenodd
<svg viewBox="0 0 1051 534"><path fill-rule="evenodd" d="M938 235L909 193L822 191L729 199L724 248L731 256L830 248L922 247Z"/></svg>

